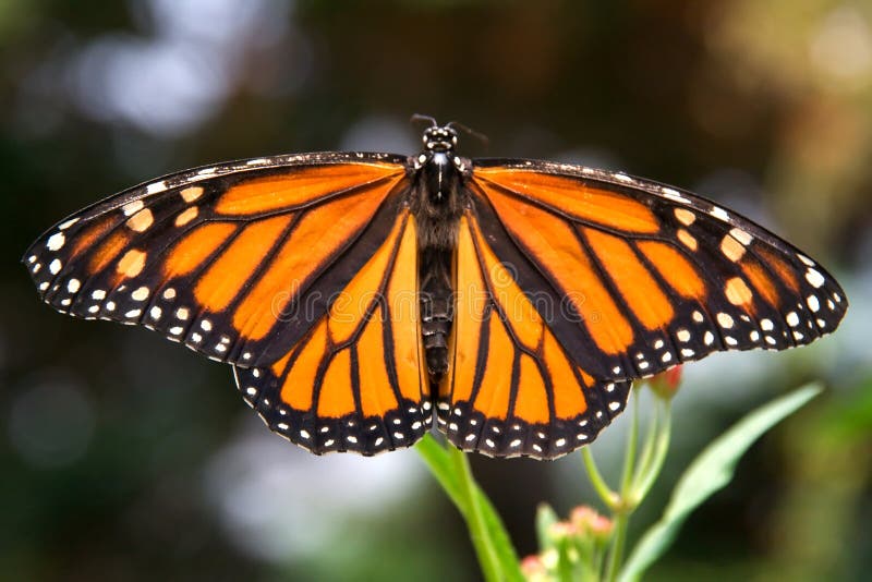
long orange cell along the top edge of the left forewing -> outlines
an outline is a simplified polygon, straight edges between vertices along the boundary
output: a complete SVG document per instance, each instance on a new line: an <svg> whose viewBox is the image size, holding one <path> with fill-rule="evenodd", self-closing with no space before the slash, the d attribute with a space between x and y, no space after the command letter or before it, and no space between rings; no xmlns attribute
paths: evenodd
<svg viewBox="0 0 872 582"><path fill-rule="evenodd" d="M284 174L245 180L218 198L215 211L222 215L253 215L293 209L334 193L365 186L382 179L403 175L396 163L328 163L289 169Z"/></svg>

